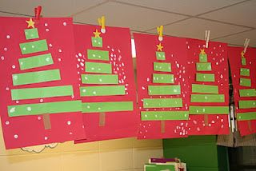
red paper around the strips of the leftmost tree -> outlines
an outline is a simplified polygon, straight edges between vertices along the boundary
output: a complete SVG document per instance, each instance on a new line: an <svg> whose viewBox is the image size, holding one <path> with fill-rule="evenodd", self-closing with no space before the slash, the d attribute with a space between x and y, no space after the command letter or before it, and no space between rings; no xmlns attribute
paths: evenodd
<svg viewBox="0 0 256 171"><path fill-rule="evenodd" d="M35 23L38 28L38 39L26 40L24 30L30 18L0 18L0 111L2 130L6 149L42 145L52 142L63 142L84 138L85 131L82 123L82 113L54 113L50 114L51 129L44 129L42 115L8 117L7 105L22 105L51 101L78 100L78 80L76 59L74 58L74 36L72 18L40 18ZM22 55L19 43L46 39L47 51ZM51 53L54 65L42 66L30 70L19 70L18 58L30 57L38 54ZM30 85L14 86L12 74L29 71L59 69L61 81L44 82ZM33 100L12 101L10 89L44 87L53 85L73 85L74 97L49 97Z"/></svg>

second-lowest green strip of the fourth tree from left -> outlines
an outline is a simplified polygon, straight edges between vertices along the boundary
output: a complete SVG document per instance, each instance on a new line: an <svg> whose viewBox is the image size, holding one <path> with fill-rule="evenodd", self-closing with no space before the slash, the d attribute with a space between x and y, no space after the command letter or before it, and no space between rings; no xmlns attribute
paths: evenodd
<svg viewBox="0 0 256 171"><path fill-rule="evenodd" d="M224 94L191 94L191 102L225 102Z"/></svg>

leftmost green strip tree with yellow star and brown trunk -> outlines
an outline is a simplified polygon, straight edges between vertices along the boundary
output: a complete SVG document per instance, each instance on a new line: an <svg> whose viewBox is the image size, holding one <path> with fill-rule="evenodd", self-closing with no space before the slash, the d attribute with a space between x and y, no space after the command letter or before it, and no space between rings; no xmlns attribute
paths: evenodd
<svg viewBox="0 0 256 171"><path fill-rule="evenodd" d="M30 18L28 27L25 30L26 40L19 44L22 55L29 54L30 57L19 58L20 69L29 70L42 66L54 64L50 53L47 53L48 45L46 39L39 39L38 29L34 28L34 22ZM34 41L34 39L37 39ZM44 52L44 54L33 56L34 53ZM30 85L41 82L54 82L61 80L61 73L58 69L40 70L34 72L22 72L21 74L13 74L13 85ZM26 100L44 97L62 97L74 96L72 85L47 86L38 88L11 89L11 97L13 101ZM40 115L43 116L45 129L50 129L50 113L66 113L81 110L81 101L57 101L50 103L37 103L26 105L9 105L8 114L10 117Z"/></svg>

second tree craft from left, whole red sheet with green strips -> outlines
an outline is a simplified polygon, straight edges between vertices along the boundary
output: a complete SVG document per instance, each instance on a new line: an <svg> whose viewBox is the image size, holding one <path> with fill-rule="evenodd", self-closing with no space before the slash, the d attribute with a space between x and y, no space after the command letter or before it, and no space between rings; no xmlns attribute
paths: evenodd
<svg viewBox="0 0 256 171"><path fill-rule="evenodd" d="M135 137L136 88L130 30L74 25L86 141Z"/></svg>

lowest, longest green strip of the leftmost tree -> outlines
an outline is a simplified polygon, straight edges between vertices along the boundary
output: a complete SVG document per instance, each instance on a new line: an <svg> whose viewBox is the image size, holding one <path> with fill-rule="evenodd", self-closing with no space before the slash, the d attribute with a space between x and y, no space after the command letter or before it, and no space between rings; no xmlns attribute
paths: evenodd
<svg viewBox="0 0 256 171"><path fill-rule="evenodd" d="M49 103L35 103L26 105L9 105L9 117L38 115L44 113L67 113L82 110L82 101L58 101Z"/></svg>

